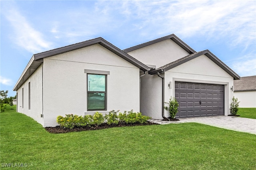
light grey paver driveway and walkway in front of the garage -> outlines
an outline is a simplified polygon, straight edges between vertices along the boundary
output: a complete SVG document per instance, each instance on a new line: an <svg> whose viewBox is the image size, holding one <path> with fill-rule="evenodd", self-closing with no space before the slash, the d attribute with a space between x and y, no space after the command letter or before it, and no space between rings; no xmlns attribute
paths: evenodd
<svg viewBox="0 0 256 170"><path fill-rule="evenodd" d="M190 117L178 119L180 121L161 121L158 119L150 119L149 121L162 125L170 123L196 122L233 131L252 133L256 135L256 119L233 116Z"/></svg>

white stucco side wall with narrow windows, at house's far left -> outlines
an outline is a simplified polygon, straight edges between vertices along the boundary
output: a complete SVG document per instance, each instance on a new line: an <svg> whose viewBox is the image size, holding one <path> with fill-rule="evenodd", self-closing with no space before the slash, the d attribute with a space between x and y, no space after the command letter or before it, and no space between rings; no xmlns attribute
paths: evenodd
<svg viewBox="0 0 256 170"><path fill-rule="evenodd" d="M28 109L28 83L30 82L30 109ZM23 88L23 108L22 108ZM42 65L17 90L17 111L24 113L43 125L42 114Z"/></svg>

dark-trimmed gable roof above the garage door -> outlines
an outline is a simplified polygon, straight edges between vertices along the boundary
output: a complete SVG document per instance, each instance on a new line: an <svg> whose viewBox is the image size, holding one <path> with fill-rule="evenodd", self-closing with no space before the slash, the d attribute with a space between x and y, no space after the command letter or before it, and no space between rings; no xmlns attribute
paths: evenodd
<svg viewBox="0 0 256 170"><path fill-rule="evenodd" d="M224 64L220 59L218 59L218 57L216 57L214 54L212 54L209 50L204 50L204 51L199 51L190 55L187 55L186 57L183 57L181 59L178 59L176 61L173 61L172 63L166 64L162 67L159 68L154 68L151 69L150 71L148 71L148 74L157 74L159 73L163 73L166 72L176 66L179 66L180 64L186 63L187 61L190 61L196 57L199 57L201 55L206 55L210 60L212 60L215 64L217 64L218 66L220 66L220 68L222 68L223 70L225 70L230 76L232 76L234 78L234 80L238 80L240 79L240 76L238 74L236 74L233 70L231 70L231 68L229 68L226 64Z"/></svg>

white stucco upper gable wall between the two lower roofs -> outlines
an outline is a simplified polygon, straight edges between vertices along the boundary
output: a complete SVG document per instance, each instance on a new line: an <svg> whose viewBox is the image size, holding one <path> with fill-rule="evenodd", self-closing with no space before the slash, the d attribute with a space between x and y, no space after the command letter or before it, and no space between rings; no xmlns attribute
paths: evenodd
<svg viewBox="0 0 256 170"><path fill-rule="evenodd" d="M171 39L148 45L128 54L144 64L155 65L156 68L189 55Z"/></svg>

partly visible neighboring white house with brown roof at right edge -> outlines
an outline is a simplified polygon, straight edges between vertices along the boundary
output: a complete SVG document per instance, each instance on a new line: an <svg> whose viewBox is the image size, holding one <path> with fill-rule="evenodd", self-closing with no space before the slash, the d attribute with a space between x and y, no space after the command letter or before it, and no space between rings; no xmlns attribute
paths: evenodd
<svg viewBox="0 0 256 170"><path fill-rule="evenodd" d="M238 98L239 107L256 107L256 76L234 80L234 97Z"/></svg>

